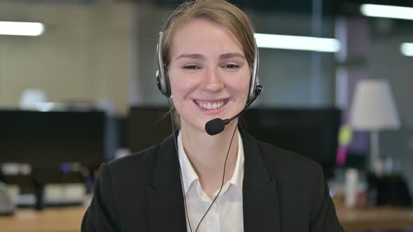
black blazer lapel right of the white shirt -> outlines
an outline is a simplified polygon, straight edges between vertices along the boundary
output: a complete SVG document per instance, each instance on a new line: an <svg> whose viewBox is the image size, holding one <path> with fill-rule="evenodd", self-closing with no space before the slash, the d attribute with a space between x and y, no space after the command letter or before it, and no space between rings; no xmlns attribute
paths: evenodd
<svg viewBox="0 0 413 232"><path fill-rule="evenodd" d="M279 199L256 140L241 133L244 144L244 231L280 231Z"/></svg>

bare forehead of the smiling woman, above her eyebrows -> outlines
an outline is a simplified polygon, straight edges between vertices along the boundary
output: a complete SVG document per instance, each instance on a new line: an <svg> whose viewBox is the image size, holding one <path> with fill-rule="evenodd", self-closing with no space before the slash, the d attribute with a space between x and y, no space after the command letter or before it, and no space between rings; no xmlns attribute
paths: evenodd
<svg viewBox="0 0 413 232"><path fill-rule="evenodd" d="M182 52L239 52L244 55L237 37L223 24L195 19L183 22L172 35L172 57Z"/></svg>

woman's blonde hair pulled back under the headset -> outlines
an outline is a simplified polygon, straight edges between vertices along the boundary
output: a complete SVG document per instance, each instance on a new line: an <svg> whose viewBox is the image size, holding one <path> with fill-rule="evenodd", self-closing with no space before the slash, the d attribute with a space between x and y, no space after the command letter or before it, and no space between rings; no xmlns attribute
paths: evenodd
<svg viewBox="0 0 413 232"><path fill-rule="evenodd" d="M174 10L165 25L160 49L162 50L162 61L166 70L170 62L169 55L174 32L179 25L195 19L211 20L228 28L241 44L250 70L253 69L256 45L251 20L237 6L227 1L197 0L182 3L181 6ZM172 108L172 113L174 115L174 122L179 128L179 114L174 108Z"/></svg>

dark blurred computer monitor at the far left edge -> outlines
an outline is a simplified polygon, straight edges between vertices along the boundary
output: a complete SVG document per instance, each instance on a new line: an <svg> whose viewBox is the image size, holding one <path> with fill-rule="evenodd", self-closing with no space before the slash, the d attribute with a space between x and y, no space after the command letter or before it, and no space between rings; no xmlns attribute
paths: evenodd
<svg viewBox="0 0 413 232"><path fill-rule="evenodd" d="M104 161L103 112L0 110L0 164L97 168Z"/></svg>

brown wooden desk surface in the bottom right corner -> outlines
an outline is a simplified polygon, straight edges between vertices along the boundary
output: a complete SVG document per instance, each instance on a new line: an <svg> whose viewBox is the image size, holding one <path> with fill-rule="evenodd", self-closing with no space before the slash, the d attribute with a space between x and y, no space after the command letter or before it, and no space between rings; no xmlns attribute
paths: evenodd
<svg viewBox="0 0 413 232"><path fill-rule="evenodd" d="M337 207L336 210L345 230L413 229L413 208L348 209Z"/></svg>

